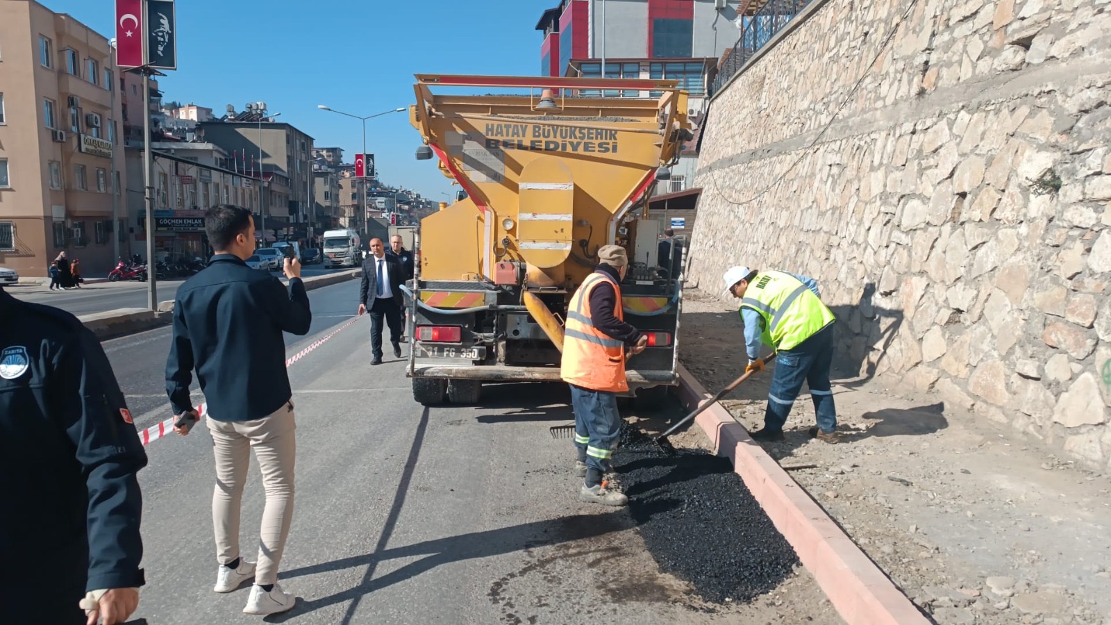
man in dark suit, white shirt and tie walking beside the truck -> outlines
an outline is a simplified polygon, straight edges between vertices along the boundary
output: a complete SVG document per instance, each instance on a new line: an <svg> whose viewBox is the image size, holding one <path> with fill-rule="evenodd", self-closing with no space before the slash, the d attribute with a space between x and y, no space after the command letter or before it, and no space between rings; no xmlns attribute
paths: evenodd
<svg viewBox="0 0 1111 625"><path fill-rule="evenodd" d="M359 287L359 315L370 311L371 365L382 364L382 318L390 326L393 355L401 357L401 282L404 269L394 258L386 256L382 239L370 239L370 254L362 261L362 285Z"/></svg>

